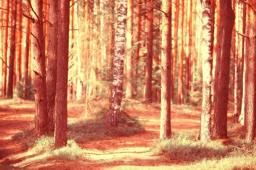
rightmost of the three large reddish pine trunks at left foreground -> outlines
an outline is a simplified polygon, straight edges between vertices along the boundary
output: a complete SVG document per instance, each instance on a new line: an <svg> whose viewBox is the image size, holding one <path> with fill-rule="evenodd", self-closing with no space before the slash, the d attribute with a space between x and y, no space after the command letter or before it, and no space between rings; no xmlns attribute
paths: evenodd
<svg viewBox="0 0 256 170"><path fill-rule="evenodd" d="M67 145L67 75L70 0L58 2L58 60L54 147Z"/></svg>

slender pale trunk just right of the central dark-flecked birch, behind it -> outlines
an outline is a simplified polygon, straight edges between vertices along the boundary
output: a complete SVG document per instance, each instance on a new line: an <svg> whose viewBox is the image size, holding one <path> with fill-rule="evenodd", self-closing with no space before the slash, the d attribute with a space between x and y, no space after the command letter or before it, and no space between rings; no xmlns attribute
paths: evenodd
<svg viewBox="0 0 256 170"><path fill-rule="evenodd" d="M133 1L128 0L127 5L127 31L126 31L126 48L127 48L127 64L126 64L126 98L133 98L133 91L132 91L132 57L133 57Z"/></svg>

